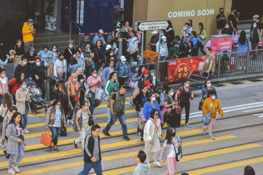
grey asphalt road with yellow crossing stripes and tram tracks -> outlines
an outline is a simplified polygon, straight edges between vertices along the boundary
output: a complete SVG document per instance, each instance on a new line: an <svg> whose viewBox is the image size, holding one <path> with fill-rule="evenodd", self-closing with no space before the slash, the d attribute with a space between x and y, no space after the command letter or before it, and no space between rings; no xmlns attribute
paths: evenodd
<svg viewBox="0 0 263 175"><path fill-rule="evenodd" d="M263 79L261 79L263 80ZM256 174L262 174L263 163L263 81L242 84L225 84L218 87L219 100L224 109L225 118L218 116L214 129L216 140L201 133L201 112L198 111L200 95L191 101L191 129L181 126L176 129L183 140L183 159L179 162L176 172L190 172L190 175L233 175L243 174L244 167L255 167ZM195 93L200 93L196 91ZM138 118L134 109L129 106L127 97L125 108L126 122L130 141L123 140L119 123L109 133L111 137L101 136L103 174L132 174L136 165L135 155L144 144L136 136ZM102 129L107 125L106 104L95 110L96 124ZM184 112L183 112L184 113ZM182 115L182 122L184 120ZM45 115L39 111L36 116L30 114L26 134L25 157L21 160L19 174L78 174L83 167L82 150L73 148L73 140L79 133L73 131L72 125L67 126L68 136L59 138L60 152L49 151L39 144L40 135L44 132ZM165 134L165 129L163 129ZM163 145L163 139L161 142ZM78 147L81 147L79 144ZM2 149L1 149L2 152ZM6 174L8 160L0 155L0 174ZM166 166L155 167L152 174L161 174ZM93 172L93 170L92 170Z"/></svg>

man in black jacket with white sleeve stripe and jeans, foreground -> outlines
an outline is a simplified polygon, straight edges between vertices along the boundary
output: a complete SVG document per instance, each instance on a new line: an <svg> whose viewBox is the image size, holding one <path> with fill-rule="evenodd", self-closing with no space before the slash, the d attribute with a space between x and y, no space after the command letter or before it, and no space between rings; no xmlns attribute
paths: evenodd
<svg viewBox="0 0 263 175"><path fill-rule="evenodd" d="M102 175L101 154L100 154L100 126L93 125L91 133L85 138L84 143L84 168L78 175L87 175L91 168L96 175Z"/></svg>

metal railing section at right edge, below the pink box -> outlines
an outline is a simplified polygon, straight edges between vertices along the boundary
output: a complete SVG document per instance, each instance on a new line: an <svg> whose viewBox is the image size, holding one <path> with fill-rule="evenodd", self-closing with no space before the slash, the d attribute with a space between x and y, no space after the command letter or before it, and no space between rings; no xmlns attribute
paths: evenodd
<svg viewBox="0 0 263 175"><path fill-rule="evenodd" d="M217 77L263 71L263 49L217 53Z"/></svg>

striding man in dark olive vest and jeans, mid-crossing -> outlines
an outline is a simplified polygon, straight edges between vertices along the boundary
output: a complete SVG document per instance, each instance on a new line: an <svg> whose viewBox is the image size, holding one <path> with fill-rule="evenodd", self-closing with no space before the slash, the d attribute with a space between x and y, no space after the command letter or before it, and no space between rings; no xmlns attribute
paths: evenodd
<svg viewBox="0 0 263 175"><path fill-rule="evenodd" d="M102 133L106 136L111 136L109 134L109 129L111 129L112 125L116 122L117 118L120 120L120 125L123 129L123 138L125 140L129 140L127 125L125 122L125 93L127 88L125 86L120 86L120 91L118 93L114 93L111 96L111 120L103 129Z"/></svg>

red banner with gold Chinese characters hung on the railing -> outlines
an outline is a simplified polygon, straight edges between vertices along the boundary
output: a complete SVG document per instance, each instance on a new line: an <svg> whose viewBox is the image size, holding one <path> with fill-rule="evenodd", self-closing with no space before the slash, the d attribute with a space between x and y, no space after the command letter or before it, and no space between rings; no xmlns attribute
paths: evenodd
<svg viewBox="0 0 263 175"><path fill-rule="evenodd" d="M201 65L205 59L206 55L169 60L167 62L168 83L185 80L189 77L191 71L193 69L198 69L199 65Z"/></svg>

